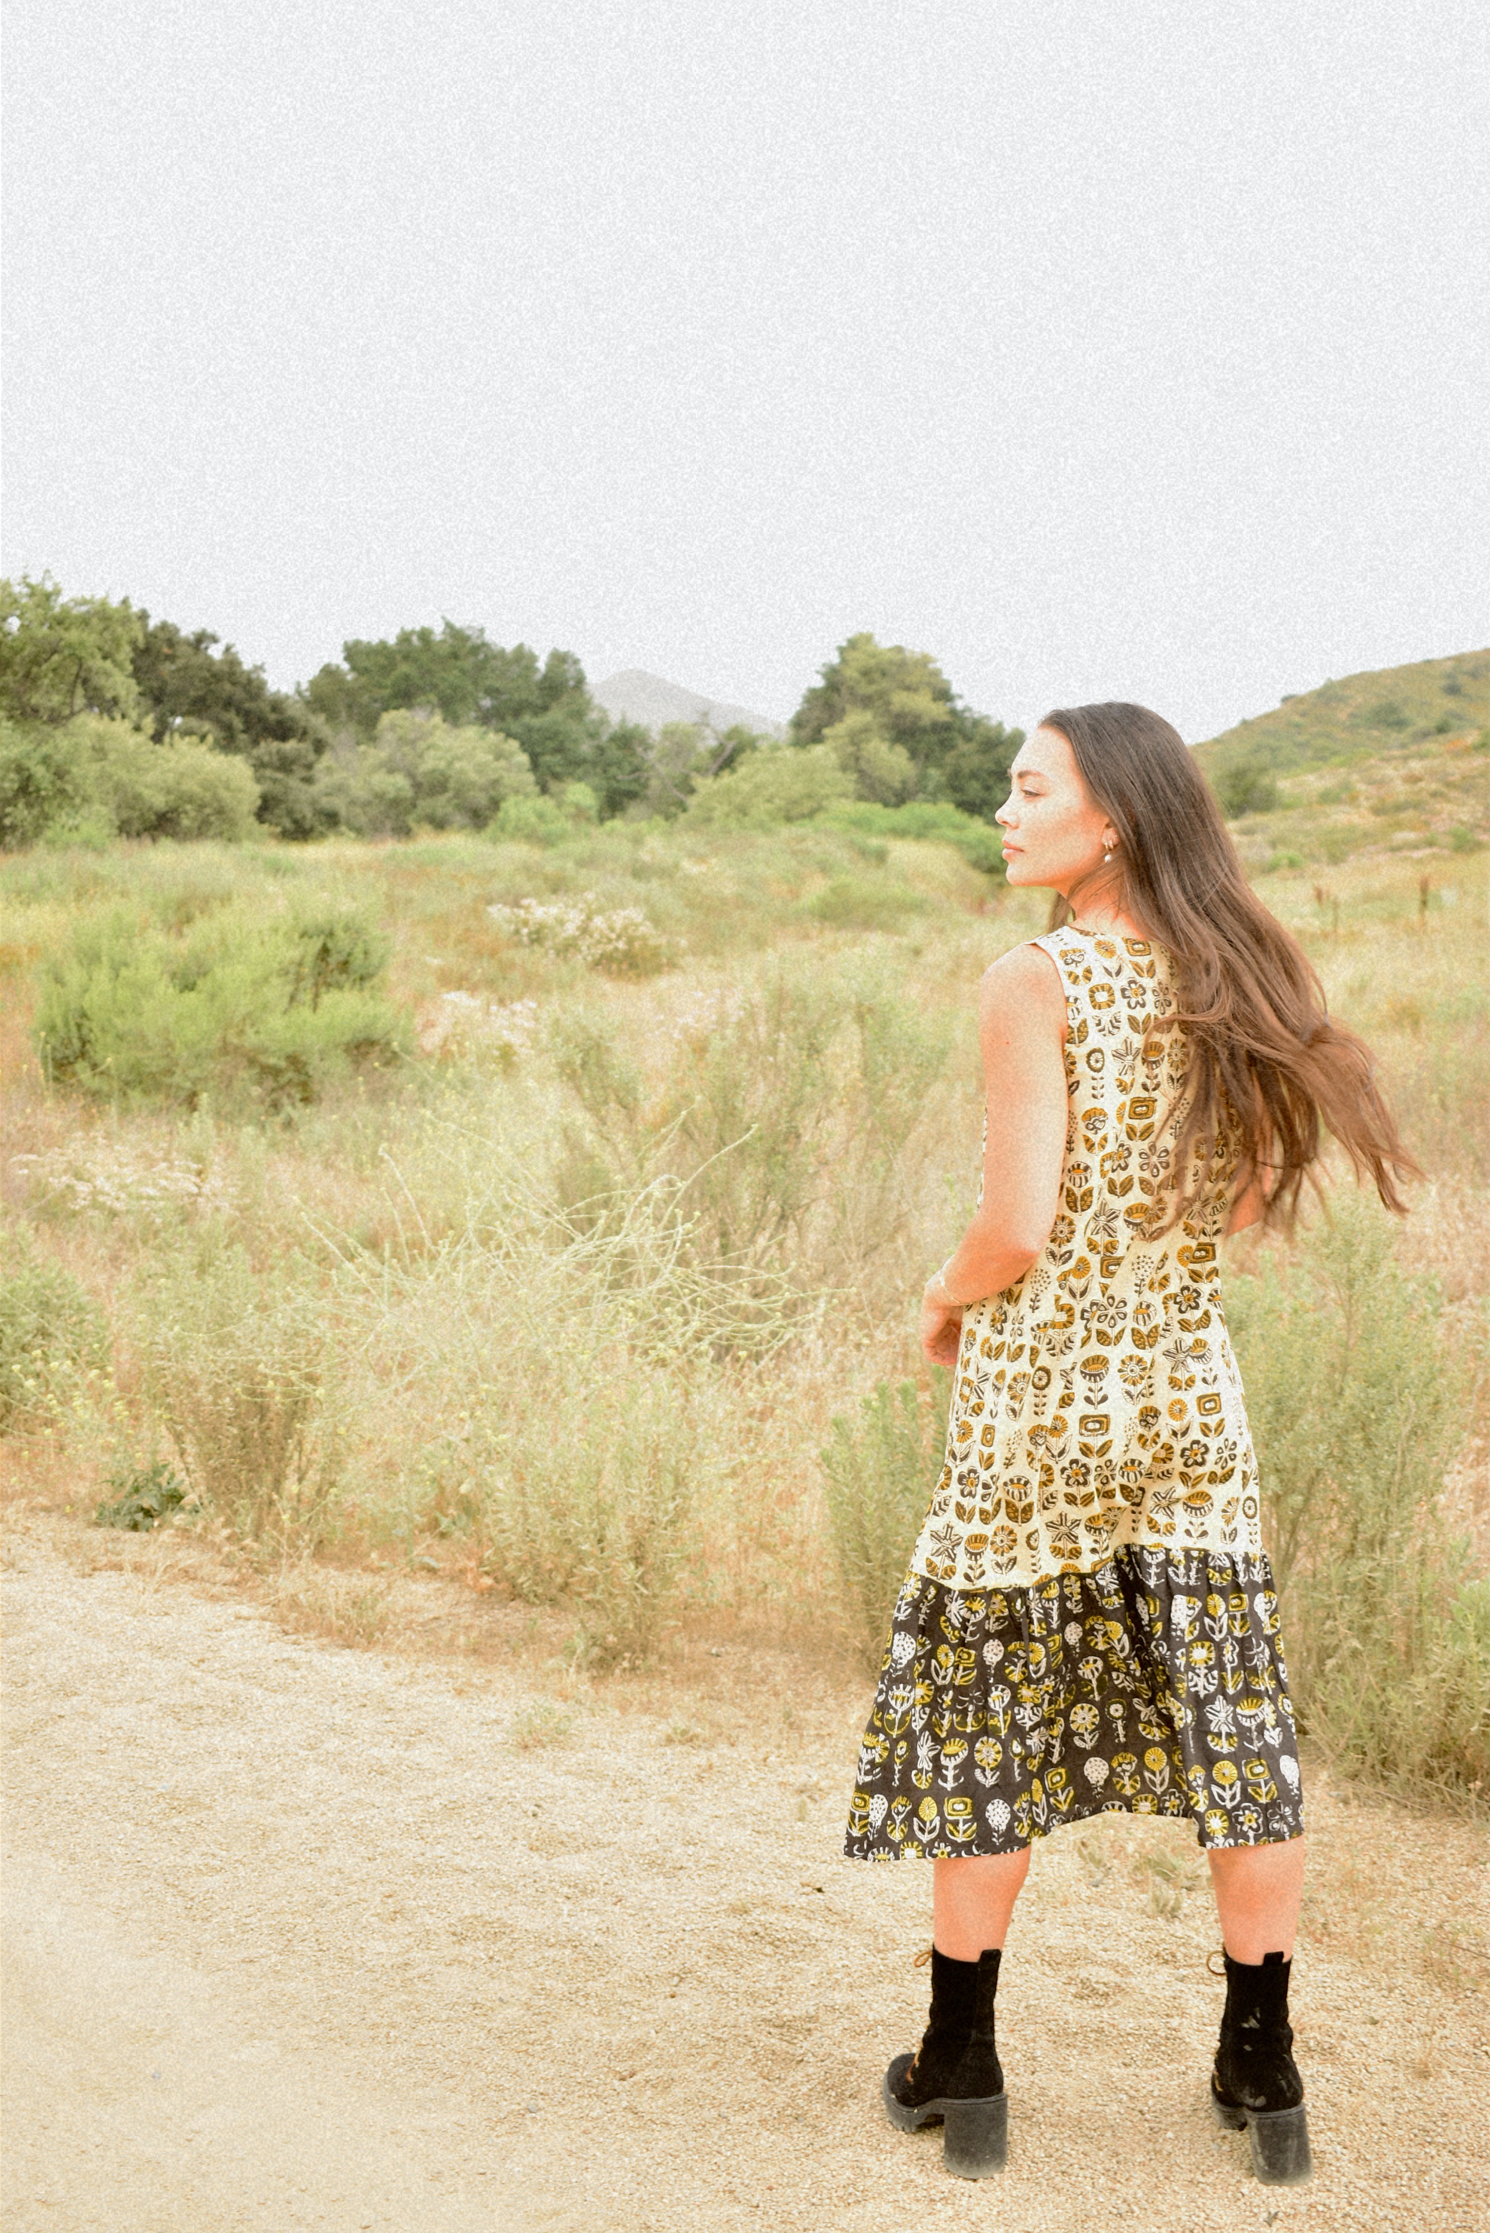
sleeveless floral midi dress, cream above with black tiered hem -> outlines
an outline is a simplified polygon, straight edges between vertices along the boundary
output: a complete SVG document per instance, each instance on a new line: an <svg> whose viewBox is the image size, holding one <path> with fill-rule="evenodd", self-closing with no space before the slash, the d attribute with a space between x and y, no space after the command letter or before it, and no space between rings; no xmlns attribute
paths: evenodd
<svg viewBox="0 0 1490 2233"><path fill-rule="evenodd" d="M1066 987L1061 1206L963 1311L947 1454L891 1617L853 1860L1010 1853L1095 1813L1302 1836L1258 1463L1220 1297L1235 1150L1177 1183L1162 947L1032 940ZM1204 1150L1202 1150L1204 1152Z"/></svg>

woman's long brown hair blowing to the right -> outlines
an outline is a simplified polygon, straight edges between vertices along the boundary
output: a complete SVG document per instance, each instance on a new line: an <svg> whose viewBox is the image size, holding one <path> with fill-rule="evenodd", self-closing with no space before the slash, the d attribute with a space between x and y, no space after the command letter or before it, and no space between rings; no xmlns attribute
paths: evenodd
<svg viewBox="0 0 1490 2233"><path fill-rule="evenodd" d="M1066 706L1041 728L1068 739L1081 782L1117 831L1119 904L1175 965L1191 1036L1193 1092L1177 1143L1179 1183L1226 1141L1244 1183L1260 1175L1264 1217L1289 1224L1322 1134L1369 1177L1389 1210L1421 1177L1376 1085L1372 1050L1334 1023L1314 962L1251 891L1220 806L1184 739L1146 706ZM1057 895L1052 929L1068 920ZM1191 1208L1204 1177L1175 1215Z"/></svg>

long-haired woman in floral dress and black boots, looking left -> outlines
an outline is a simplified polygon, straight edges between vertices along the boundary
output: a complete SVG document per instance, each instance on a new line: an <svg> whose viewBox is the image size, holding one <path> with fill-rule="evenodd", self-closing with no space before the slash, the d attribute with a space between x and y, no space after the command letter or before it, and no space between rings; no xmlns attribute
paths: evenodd
<svg viewBox="0 0 1490 2233"><path fill-rule="evenodd" d="M847 1851L934 1862L932 2016L885 2077L947 2168L1003 2164L994 1994L1030 1840L1188 1815L1226 1958L1211 2097L1262 2179L1309 2173L1289 1963L1302 1798L1220 1242L1287 1221L1331 1132L1414 1175L1363 1043L1253 898L1179 735L1052 712L999 813L1059 893L983 978L983 1190L927 1282L947 1456L900 1590Z"/></svg>

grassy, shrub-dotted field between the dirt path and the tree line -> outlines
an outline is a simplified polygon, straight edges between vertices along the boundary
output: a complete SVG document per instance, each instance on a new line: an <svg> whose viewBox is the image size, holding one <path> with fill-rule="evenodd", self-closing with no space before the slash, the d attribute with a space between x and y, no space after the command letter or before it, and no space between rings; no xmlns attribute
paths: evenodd
<svg viewBox="0 0 1490 2233"><path fill-rule="evenodd" d="M1468 1806L1488 860L1258 871L1427 1181L1233 1264L1311 1726ZM436 1572L596 1670L865 1648L938 1434L914 1300L976 1186L974 989L1043 895L813 824L51 851L2 889L20 1494L159 1507L348 1639Z"/></svg>

